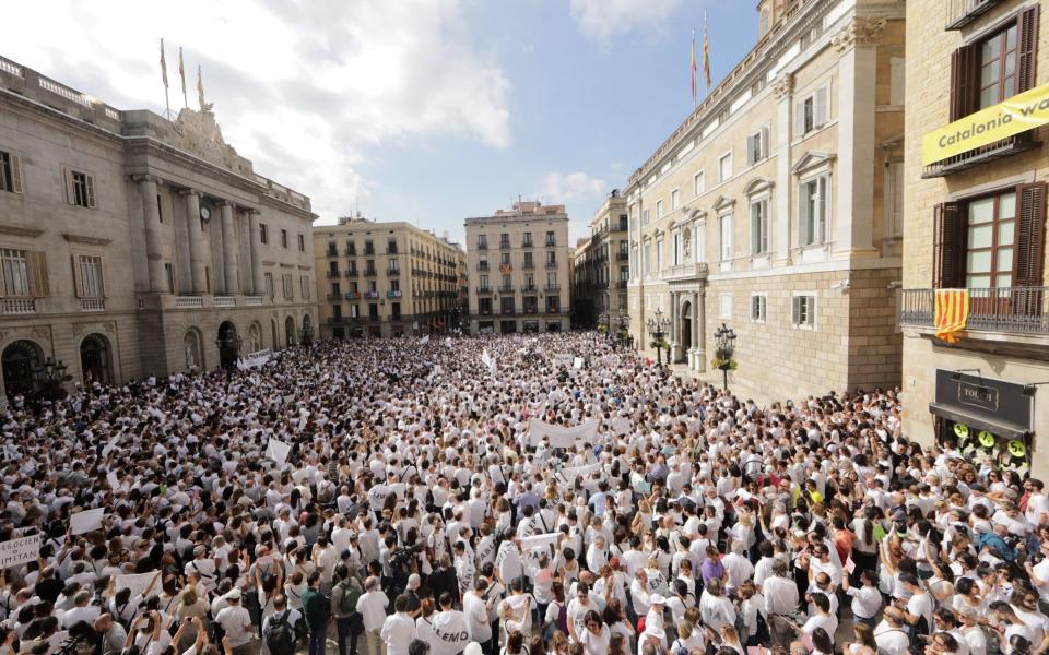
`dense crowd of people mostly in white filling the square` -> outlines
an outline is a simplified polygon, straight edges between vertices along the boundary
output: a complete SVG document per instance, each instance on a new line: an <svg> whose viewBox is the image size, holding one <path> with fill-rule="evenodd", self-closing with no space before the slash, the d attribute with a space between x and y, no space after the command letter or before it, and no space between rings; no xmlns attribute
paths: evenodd
<svg viewBox="0 0 1049 655"><path fill-rule="evenodd" d="M899 414L758 406L596 334L14 398L0 541L40 547L0 579L0 655L1044 652L1042 484Z"/></svg>

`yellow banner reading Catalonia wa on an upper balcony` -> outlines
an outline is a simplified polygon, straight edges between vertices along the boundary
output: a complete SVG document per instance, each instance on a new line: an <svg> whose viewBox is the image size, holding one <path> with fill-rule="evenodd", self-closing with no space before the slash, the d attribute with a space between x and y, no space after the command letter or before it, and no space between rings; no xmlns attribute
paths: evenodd
<svg viewBox="0 0 1049 655"><path fill-rule="evenodd" d="M1049 84L929 132L921 141L921 165L929 166L1046 123L1049 123Z"/></svg>

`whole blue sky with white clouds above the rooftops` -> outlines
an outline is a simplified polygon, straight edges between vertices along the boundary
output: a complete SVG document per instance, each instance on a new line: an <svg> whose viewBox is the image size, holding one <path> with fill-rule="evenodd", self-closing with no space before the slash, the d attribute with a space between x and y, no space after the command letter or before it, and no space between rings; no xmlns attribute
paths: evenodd
<svg viewBox="0 0 1049 655"><path fill-rule="evenodd" d="M754 45L753 0L17 2L0 55L119 109L173 109L196 70L226 141L313 199L452 238L521 195L573 239L692 109L704 12L714 82ZM9 12L10 16L10 12ZM45 27L46 26L46 27Z"/></svg>

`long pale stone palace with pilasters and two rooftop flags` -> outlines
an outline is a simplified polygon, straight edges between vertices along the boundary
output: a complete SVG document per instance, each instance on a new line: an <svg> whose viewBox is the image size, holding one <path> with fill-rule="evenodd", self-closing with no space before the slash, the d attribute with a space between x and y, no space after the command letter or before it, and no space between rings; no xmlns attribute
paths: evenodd
<svg viewBox="0 0 1049 655"><path fill-rule="evenodd" d="M669 319L673 361L710 372L723 324L740 393L899 383L904 10L758 4L756 46L624 190L643 348Z"/></svg>

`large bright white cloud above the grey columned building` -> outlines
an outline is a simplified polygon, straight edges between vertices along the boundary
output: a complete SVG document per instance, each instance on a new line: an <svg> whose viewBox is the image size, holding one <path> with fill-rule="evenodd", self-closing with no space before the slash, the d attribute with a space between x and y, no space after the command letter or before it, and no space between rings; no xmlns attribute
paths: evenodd
<svg viewBox="0 0 1049 655"><path fill-rule="evenodd" d="M120 108L182 106L178 47L223 135L256 170L309 194L325 217L366 196L355 167L378 144L460 135L511 143L507 81L470 47L461 0L23 2L0 53Z"/></svg>

